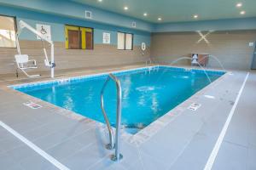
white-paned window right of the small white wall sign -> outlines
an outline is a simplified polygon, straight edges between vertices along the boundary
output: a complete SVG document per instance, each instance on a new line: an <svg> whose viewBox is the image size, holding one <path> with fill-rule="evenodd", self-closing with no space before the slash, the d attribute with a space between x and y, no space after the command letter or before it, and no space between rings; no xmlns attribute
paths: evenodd
<svg viewBox="0 0 256 170"><path fill-rule="evenodd" d="M118 49L133 49L133 34L118 32Z"/></svg>

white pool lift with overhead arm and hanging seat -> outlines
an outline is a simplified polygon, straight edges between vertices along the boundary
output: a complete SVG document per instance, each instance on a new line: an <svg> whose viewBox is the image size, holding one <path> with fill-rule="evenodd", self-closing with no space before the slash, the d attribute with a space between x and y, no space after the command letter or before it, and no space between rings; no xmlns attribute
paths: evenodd
<svg viewBox="0 0 256 170"><path fill-rule="evenodd" d="M20 37L21 31L24 28L26 28L27 30L32 31L32 33L34 33L38 37L40 37L42 45L43 45L43 50L44 50L44 57L45 57L44 65L50 68L50 77L54 78L55 77L54 43L51 40L49 40L48 38L44 37L44 35L41 32L35 30L32 26L29 26L28 24L26 24L26 22L24 22L23 20L20 20L19 26L20 26L20 29L16 34L16 45L17 45L17 51L18 51L18 54L15 54L15 62L17 65L16 76L19 77L19 74L18 74L19 69L26 75L26 77L33 78L33 77L41 76L41 75L29 75L26 72L28 70L38 68L37 61L35 59L29 59L27 54L21 54L21 52L20 52L19 37ZM44 47L44 41L49 42L49 45L50 45L50 61L48 59L46 48Z"/></svg>

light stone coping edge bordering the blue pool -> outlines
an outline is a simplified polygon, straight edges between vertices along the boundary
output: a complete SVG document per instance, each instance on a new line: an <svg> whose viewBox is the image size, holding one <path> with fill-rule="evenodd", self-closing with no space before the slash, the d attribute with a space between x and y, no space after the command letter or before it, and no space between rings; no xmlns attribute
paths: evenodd
<svg viewBox="0 0 256 170"><path fill-rule="evenodd" d="M147 68L153 68L157 66L165 66L165 67L171 67L171 68L177 68L177 69L184 69L184 70L202 70L201 68L197 67L187 67L187 66L173 66L173 65L148 65L148 66L142 66L142 67L137 67L137 68L131 68L131 69L120 69L119 71L107 71L107 72L102 72L102 73L96 73L96 74L88 74L85 76L73 76L73 77L58 77L50 80L44 80L44 81L37 81L37 82L27 82L27 83L18 83L14 85L7 85L4 86L5 90L8 90L12 93L18 94L22 96L23 98L27 100L31 100L38 105L42 105L46 108L48 108L50 111L54 111L56 114L60 114L62 116L66 116L68 118L71 118L76 121L81 121L81 120L88 120L90 122L94 122L96 126L98 127L105 127L106 125L102 122L97 122L96 120L93 120L87 116L82 116L79 113L76 113L74 111L70 111L67 109L62 108L61 106L51 104L47 101L44 101L42 99L38 99L36 97L33 97L29 94L22 93L18 90L16 90L15 86L20 86L20 85L27 85L27 84L38 84L40 82L58 82L61 80L67 80L69 78L89 78L89 77L100 77L100 76L105 76L108 75L109 73L120 73L120 72L125 72L125 71L137 71L137 70L143 70ZM224 72L224 74L221 77L218 77L217 80L212 82L211 84L207 85L206 87L202 88L199 90L197 93L194 95L190 96L188 99L184 100L181 104L177 105L174 107L171 111L166 112L163 116L160 116L157 120L154 122L151 122L147 127L144 127L142 130L135 134L127 133L125 130L122 130L122 139L124 139L126 142L130 144L136 144L140 145L146 142L148 139L150 139L154 134L158 133L162 128L166 127L169 123L171 123L177 116L181 115L184 110L188 108L188 104L193 103L195 99L197 99L201 94L205 94L209 88L212 88L212 86L215 86L220 82L221 80L224 79L224 77L230 75L228 73L231 73L231 71L219 71L219 70L214 70L214 69L206 69L206 71L218 71L218 72ZM182 108L182 110L181 110ZM114 129L114 127L113 127ZM154 130L152 130L154 129Z"/></svg>

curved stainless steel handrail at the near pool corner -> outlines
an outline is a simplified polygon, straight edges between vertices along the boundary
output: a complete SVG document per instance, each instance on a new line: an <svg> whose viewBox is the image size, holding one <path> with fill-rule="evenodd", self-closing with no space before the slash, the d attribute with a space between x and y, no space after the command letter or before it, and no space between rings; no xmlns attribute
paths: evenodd
<svg viewBox="0 0 256 170"><path fill-rule="evenodd" d="M104 109L104 95L103 94L104 94L105 88L107 87L107 84L110 79L112 79L115 82L116 89L117 89L115 144L113 142L113 129L108 121L108 116ZM112 161L119 161L120 159L123 158L122 154L120 154L120 129L121 129L121 107L122 107L121 99L122 99L121 83L117 77L113 76L113 74L110 73L107 77L106 82L104 82L103 87L102 87L101 108L102 108L102 114L104 116L105 122L108 127L108 134L109 134L109 144L106 145L106 148L108 150L115 149L114 154L111 156Z"/></svg>

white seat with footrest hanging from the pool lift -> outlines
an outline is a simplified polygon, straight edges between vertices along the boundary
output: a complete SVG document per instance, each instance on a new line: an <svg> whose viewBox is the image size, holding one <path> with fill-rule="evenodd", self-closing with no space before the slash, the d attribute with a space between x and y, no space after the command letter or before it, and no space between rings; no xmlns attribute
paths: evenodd
<svg viewBox="0 0 256 170"><path fill-rule="evenodd" d="M18 69L24 72L27 77L40 77L40 75L29 75L26 70L37 69L37 61L35 59L28 59L27 54L16 54L15 61L17 64L16 76L18 77Z"/></svg>

